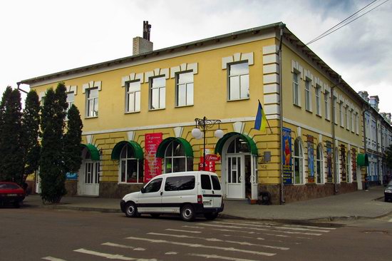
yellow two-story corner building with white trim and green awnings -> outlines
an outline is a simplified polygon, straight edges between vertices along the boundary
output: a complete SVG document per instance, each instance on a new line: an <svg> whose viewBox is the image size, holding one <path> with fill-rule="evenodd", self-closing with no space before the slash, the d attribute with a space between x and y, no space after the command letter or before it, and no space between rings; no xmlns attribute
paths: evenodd
<svg viewBox="0 0 392 261"><path fill-rule="evenodd" d="M21 81L41 99L64 81L81 111L70 195L121 197L160 173L202 168L220 175L225 198L279 203L361 188L363 99L284 24L152 46L138 37L133 56ZM195 138L204 117L220 122Z"/></svg>

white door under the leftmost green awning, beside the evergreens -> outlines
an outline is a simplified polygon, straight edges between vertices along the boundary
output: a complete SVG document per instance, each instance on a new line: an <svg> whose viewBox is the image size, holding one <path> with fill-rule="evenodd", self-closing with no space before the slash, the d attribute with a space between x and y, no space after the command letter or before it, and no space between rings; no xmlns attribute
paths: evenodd
<svg viewBox="0 0 392 261"><path fill-rule="evenodd" d="M79 195L99 195L99 162L86 160L79 173Z"/></svg>

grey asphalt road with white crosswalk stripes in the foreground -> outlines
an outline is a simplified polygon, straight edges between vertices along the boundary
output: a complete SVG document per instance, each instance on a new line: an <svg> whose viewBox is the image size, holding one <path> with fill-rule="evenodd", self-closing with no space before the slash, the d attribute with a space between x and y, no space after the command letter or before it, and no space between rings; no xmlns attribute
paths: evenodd
<svg viewBox="0 0 392 261"><path fill-rule="evenodd" d="M392 216L294 225L0 208L0 227L0 260L392 260Z"/></svg>

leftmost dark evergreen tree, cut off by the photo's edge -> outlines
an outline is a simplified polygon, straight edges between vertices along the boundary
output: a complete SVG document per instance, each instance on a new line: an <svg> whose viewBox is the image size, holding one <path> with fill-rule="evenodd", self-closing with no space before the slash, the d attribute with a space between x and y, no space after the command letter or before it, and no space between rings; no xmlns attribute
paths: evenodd
<svg viewBox="0 0 392 261"><path fill-rule="evenodd" d="M24 148L21 143L21 94L6 90L1 101L1 179L21 184L24 170Z"/></svg>

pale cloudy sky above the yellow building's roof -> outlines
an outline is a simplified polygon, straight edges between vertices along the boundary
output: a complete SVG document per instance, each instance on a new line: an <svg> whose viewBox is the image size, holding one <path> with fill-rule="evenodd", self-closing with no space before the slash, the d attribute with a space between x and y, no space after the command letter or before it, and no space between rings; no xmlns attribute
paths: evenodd
<svg viewBox="0 0 392 261"><path fill-rule="evenodd" d="M131 56L146 20L154 50L279 21L306 44L371 1L0 1L0 93L28 78ZM392 113L392 1L373 7L384 1L309 48Z"/></svg>

